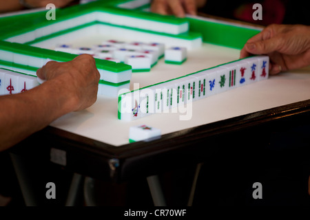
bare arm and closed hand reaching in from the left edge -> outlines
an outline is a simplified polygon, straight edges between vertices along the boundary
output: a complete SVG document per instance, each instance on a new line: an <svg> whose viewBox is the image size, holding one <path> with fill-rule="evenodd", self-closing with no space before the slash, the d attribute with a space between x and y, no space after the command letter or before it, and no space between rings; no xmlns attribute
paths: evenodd
<svg viewBox="0 0 310 220"><path fill-rule="evenodd" d="M0 96L0 151L61 115L85 109L96 101L100 74L90 55L67 63L49 62L37 75L47 81L22 94Z"/></svg>

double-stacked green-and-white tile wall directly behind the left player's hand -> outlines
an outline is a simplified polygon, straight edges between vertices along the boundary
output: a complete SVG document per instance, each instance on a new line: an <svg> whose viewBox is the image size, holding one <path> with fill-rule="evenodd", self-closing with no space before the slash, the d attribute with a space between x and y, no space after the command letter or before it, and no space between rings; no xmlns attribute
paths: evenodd
<svg viewBox="0 0 310 220"><path fill-rule="evenodd" d="M0 67L32 76L37 76L37 69L50 60L67 62L72 61L76 56L76 54L0 41ZM99 95L116 98L118 97L118 91L130 88L130 79L132 77L132 67L130 65L97 60L96 67L101 74ZM16 91L15 88L14 91Z"/></svg>

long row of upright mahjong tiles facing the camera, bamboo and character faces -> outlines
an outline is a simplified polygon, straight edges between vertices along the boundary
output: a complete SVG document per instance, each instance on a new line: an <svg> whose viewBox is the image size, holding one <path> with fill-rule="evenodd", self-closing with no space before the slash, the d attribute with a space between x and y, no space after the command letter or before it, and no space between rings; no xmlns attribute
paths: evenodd
<svg viewBox="0 0 310 220"><path fill-rule="evenodd" d="M169 112L189 102L220 94L269 76L269 56L252 56L150 85L118 96L118 119L136 120Z"/></svg>

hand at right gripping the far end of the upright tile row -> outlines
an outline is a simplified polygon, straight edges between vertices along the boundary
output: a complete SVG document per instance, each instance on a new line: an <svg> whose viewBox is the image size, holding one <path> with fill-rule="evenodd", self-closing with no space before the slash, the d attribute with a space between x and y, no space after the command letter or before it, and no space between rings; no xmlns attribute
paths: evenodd
<svg viewBox="0 0 310 220"><path fill-rule="evenodd" d="M245 43L240 58L267 54L269 74L310 65L310 27L306 25L269 25Z"/></svg>

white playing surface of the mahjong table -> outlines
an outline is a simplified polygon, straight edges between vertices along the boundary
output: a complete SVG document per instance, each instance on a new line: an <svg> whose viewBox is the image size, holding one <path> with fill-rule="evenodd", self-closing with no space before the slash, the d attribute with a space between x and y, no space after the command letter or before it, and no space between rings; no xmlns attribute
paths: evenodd
<svg viewBox="0 0 310 220"><path fill-rule="evenodd" d="M110 39L110 36L107 36L107 39ZM103 40L102 36L96 35L75 39L70 43L92 46L95 43L101 43ZM69 43L69 39L67 41L62 41L62 43ZM137 89L137 86L145 87L200 69L234 61L239 58L239 53L239 50L204 43L203 47L187 52L187 61L183 65L168 65L161 59L151 72L132 74L130 89L132 90L134 87ZM139 83L139 85L135 83ZM68 113L52 122L51 126L107 144L121 146L129 143L128 131L130 126L148 124L161 129L162 135L165 135L238 115L308 100L310 98L309 85L310 68L270 76L268 80L262 80L192 102L192 118L188 117L189 120L180 120L180 117L187 119L185 113L156 113L140 120L124 122L117 119L118 100L99 96L92 107L83 111ZM188 112L189 109L191 108L188 108Z"/></svg>

